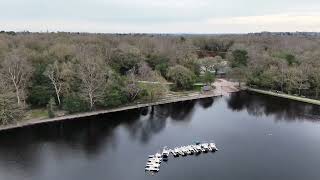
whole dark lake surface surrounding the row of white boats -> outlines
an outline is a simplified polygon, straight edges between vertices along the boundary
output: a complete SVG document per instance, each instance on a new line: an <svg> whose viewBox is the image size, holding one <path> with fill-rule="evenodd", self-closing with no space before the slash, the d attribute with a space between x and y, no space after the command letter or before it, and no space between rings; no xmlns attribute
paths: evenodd
<svg viewBox="0 0 320 180"><path fill-rule="evenodd" d="M0 133L0 180L320 179L320 108L240 92ZM216 153L147 155L214 140Z"/></svg>

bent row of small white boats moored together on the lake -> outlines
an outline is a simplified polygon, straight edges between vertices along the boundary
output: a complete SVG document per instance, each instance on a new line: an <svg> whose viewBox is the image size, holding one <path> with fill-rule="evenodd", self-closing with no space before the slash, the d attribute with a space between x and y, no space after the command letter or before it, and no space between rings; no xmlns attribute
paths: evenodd
<svg viewBox="0 0 320 180"><path fill-rule="evenodd" d="M162 153L156 153L154 155L149 155L145 166L145 171L159 172L160 164L162 161L168 161L170 154L173 157L187 156L193 154L201 154L207 152L218 151L215 143L196 143L187 146L175 147L173 149L168 149L164 147Z"/></svg>

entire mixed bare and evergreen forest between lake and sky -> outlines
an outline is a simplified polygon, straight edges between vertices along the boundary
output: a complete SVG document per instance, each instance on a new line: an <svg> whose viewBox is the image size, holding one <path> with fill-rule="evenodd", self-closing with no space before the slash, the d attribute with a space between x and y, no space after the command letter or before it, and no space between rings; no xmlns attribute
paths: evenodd
<svg viewBox="0 0 320 180"><path fill-rule="evenodd" d="M1 32L0 122L156 101L216 76L319 99L319 58L316 37Z"/></svg>

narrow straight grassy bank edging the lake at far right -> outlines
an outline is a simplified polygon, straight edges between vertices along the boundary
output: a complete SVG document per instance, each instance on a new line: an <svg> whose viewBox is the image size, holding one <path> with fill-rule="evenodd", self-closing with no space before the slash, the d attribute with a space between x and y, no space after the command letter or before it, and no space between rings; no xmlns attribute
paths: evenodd
<svg viewBox="0 0 320 180"><path fill-rule="evenodd" d="M252 92L256 92L256 93L261 93L261 94L266 94L266 95L271 95L271 96L291 99L291 100L295 100L295 101L300 101L300 102L320 105L320 101L319 100L315 100L315 99L309 99L309 98L304 98L304 97L299 97L299 96L293 96L293 95L289 95L289 94L275 93L275 92L271 92L271 91L265 91L265 90L254 89L254 88L247 88L247 90L248 91L252 91Z"/></svg>

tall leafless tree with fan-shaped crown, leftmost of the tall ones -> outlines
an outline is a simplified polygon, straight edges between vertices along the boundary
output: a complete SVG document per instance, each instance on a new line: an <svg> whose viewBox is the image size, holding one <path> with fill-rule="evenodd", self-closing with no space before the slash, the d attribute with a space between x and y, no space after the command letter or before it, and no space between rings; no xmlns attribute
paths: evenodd
<svg viewBox="0 0 320 180"><path fill-rule="evenodd" d="M32 74L32 67L19 50L13 50L5 57L2 62L2 74L13 85L17 103L21 105L21 100L24 100L26 83Z"/></svg>

